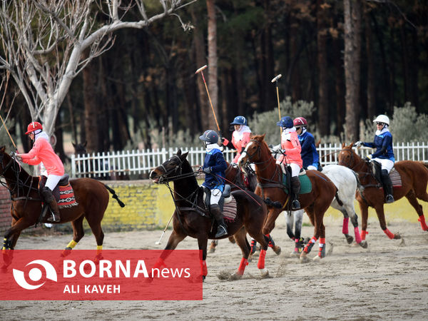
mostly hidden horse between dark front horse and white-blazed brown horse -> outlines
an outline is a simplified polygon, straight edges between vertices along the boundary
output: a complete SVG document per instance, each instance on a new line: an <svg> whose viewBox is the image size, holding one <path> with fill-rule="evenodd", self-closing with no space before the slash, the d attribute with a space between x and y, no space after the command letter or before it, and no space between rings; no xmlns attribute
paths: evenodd
<svg viewBox="0 0 428 321"><path fill-rule="evenodd" d="M230 183L231 190L250 190L254 192L257 187L257 176L254 173L253 168L250 167L250 164L245 165L244 170L241 170L237 165L232 165L228 162L228 168L225 170L225 181L226 183ZM245 174L243 173L245 171ZM273 252L276 255L280 255L281 248L278 245L275 245L272 237L270 235L266 235L269 238L269 247L272 248ZM235 239L233 236L229 238L231 243L235 243ZM214 253L215 248L218 245L218 240L212 240L210 244L210 248L208 248L208 253ZM253 255L256 252L257 242L255 240L251 240L251 253L248 261L252 259Z"/></svg>

